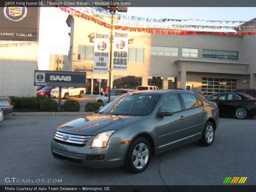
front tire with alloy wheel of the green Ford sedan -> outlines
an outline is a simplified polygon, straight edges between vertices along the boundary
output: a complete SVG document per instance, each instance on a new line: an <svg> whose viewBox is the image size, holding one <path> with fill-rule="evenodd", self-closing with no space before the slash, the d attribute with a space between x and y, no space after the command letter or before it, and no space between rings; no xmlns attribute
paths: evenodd
<svg viewBox="0 0 256 192"><path fill-rule="evenodd" d="M143 153L141 153L143 152ZM127 151L124 168L133 173L143 172L150 162L151 147L145 138L135 138Z"/></svg>

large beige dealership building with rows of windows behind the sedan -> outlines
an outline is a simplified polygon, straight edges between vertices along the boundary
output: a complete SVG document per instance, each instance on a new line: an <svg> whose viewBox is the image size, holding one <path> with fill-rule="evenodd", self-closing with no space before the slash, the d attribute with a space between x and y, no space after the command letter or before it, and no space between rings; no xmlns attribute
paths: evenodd
<svg viewBox="0 0 256 192"><path fill-rule="evenodd" d="M91 21L68 16L69 70L86 71L87 94L108 86L108 73L93 72L95 32L110 32ZM251 25L251 24L250 24ZM111 89L156 85L210 95L256 88L254 36L175 36L128 33L127 70L112 70Z"/></svg>

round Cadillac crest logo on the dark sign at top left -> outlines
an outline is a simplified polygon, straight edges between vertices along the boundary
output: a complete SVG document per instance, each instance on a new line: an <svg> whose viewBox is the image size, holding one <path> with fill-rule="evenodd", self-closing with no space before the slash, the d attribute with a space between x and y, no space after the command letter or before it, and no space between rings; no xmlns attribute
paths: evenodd
<svg viewBox="0 0 256 192"><path fill-rule="evenodd" d="M27 7L4 7L4 16L12 22L19 22L27 15Z"/></svg>

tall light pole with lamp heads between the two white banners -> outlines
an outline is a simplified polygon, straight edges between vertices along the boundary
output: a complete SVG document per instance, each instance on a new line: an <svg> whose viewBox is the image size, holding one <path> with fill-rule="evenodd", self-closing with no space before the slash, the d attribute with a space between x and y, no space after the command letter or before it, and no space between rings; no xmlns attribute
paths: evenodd
<svg viewBox="0 0 256 192"><path fill-rule="evenodd" d="M111 12L111 31L110 31L110 56L109 56L109 77L108 77L108 102L110 102L110 90L111 90L111 71L112 71L112 44L113 44L113 20L114 14L116 11L118 12L127 12L127 7L116 7L116 2L125 2L126 0L102 0L102 1L110 1L111 5L109 7L101 7L103 9Z"/></svg>

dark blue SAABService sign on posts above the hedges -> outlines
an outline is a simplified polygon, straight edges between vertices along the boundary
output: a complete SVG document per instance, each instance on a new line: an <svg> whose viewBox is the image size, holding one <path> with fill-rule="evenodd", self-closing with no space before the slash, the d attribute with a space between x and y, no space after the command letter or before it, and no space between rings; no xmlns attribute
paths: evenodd
<svg viewBox="0 0 256 192"><path fill-rule="evenodd" d="M35 70L35 86L85 87L86 73Z"/></svg>

